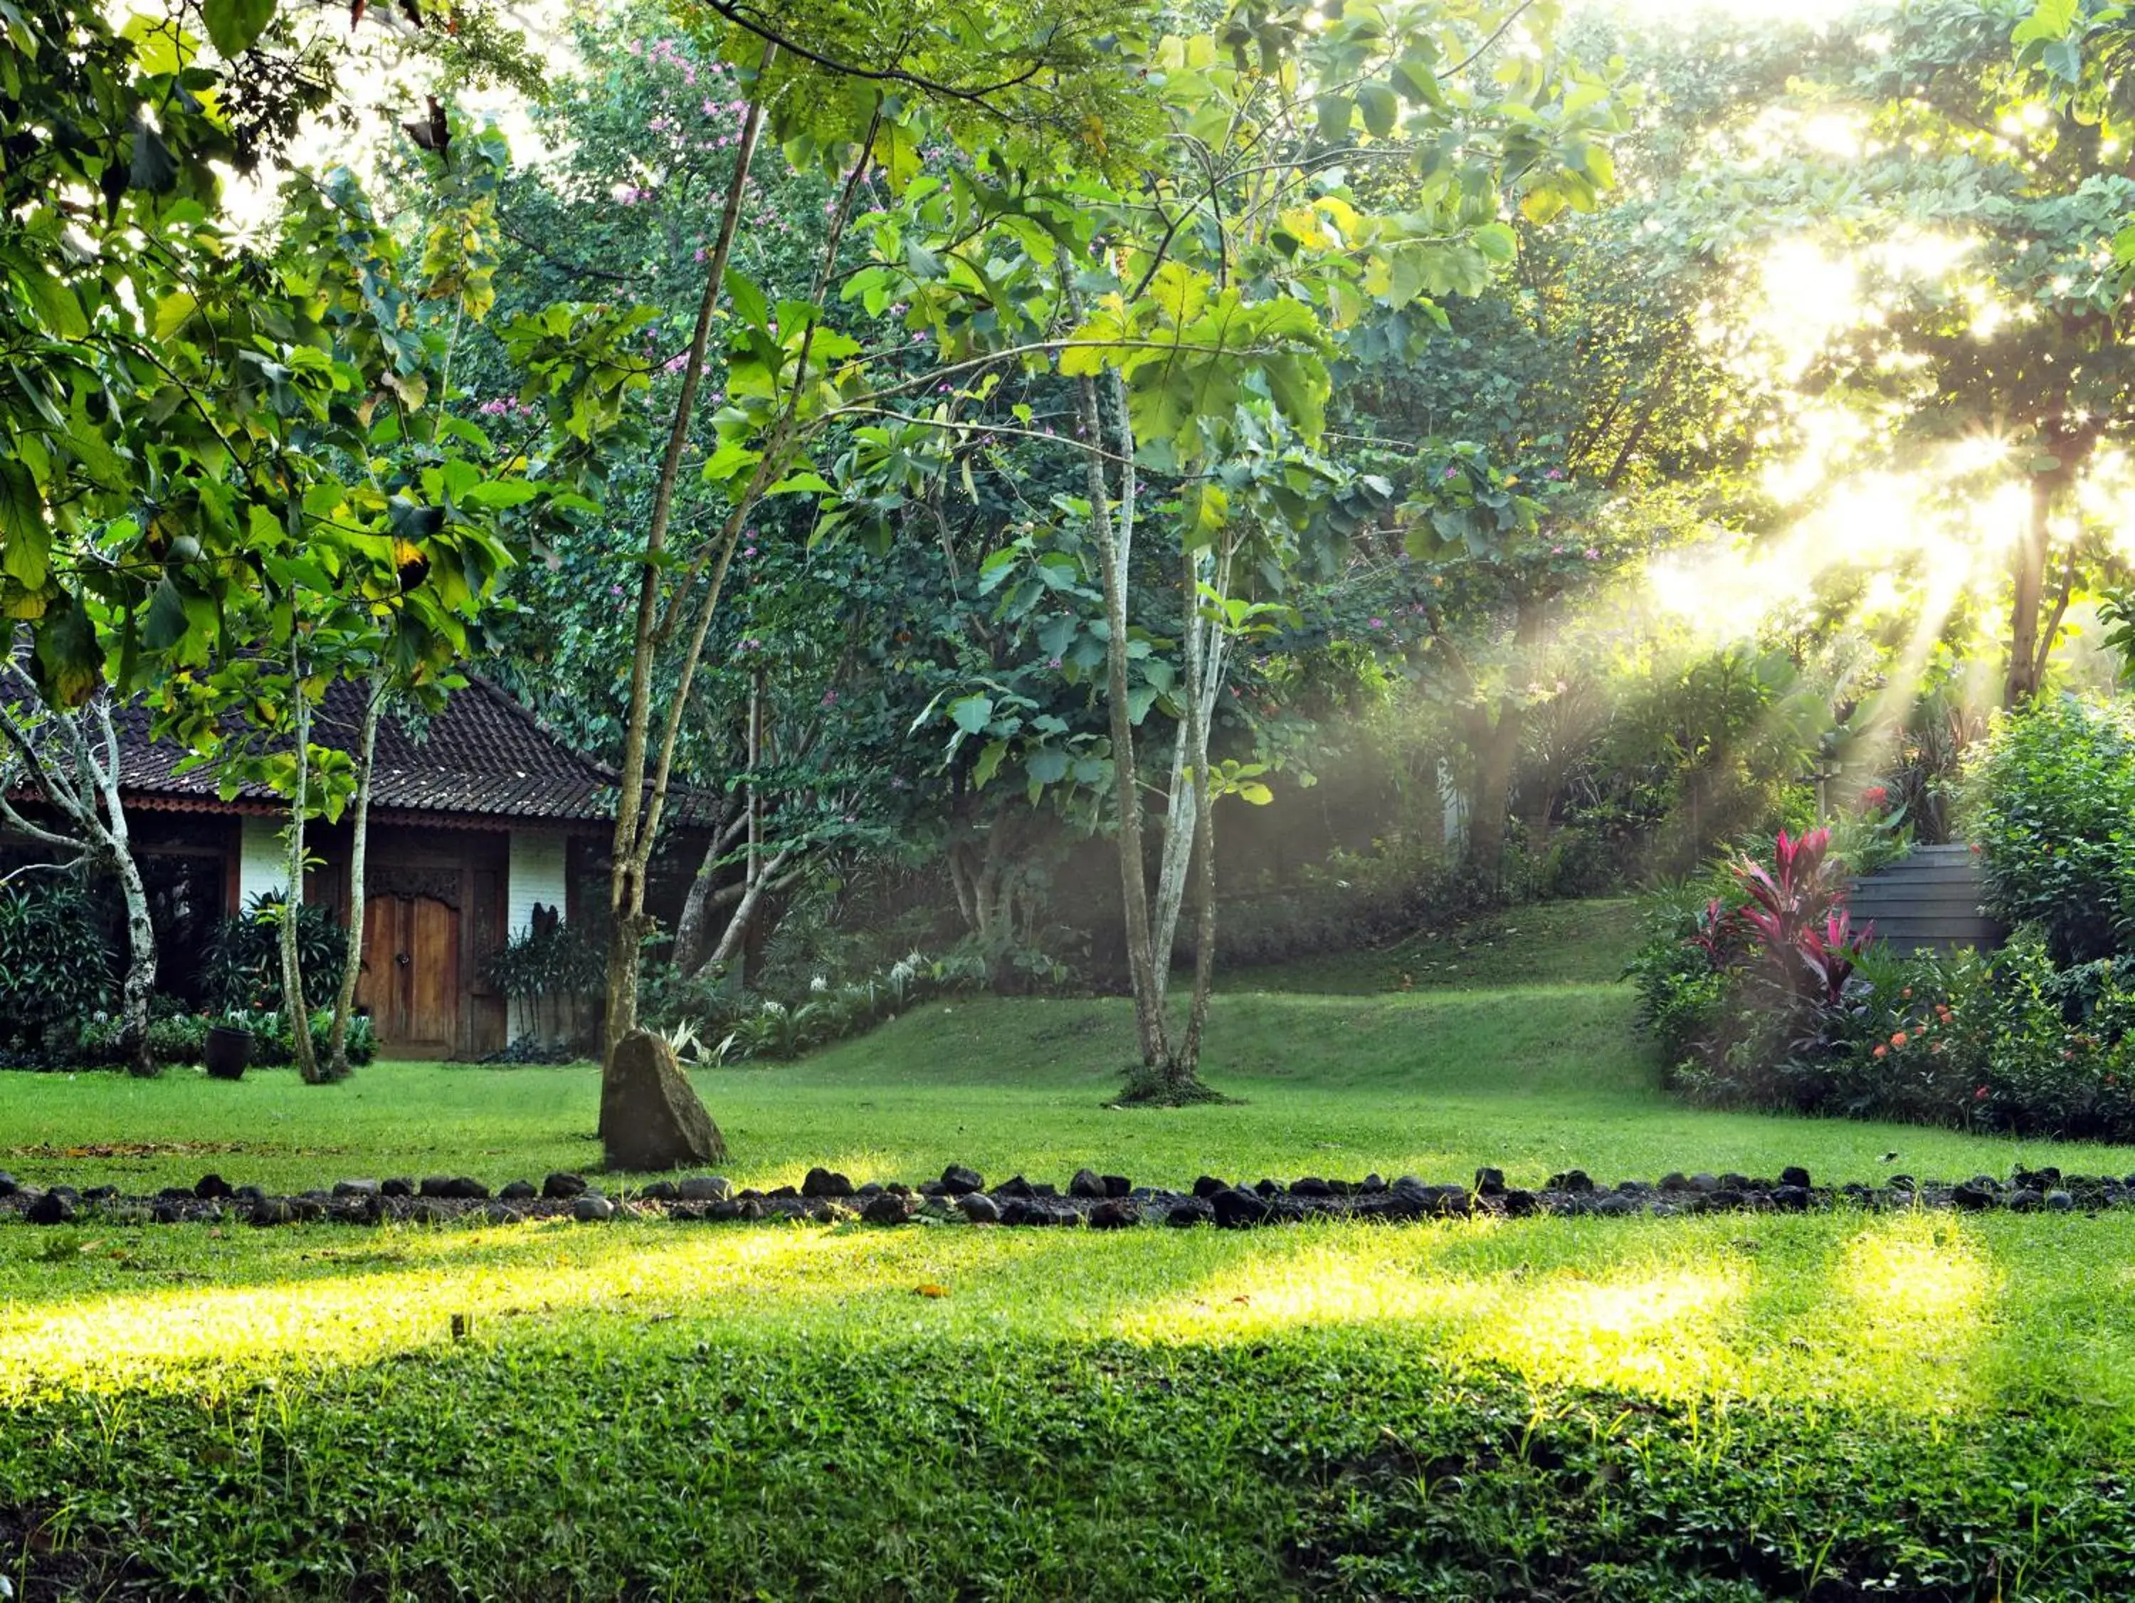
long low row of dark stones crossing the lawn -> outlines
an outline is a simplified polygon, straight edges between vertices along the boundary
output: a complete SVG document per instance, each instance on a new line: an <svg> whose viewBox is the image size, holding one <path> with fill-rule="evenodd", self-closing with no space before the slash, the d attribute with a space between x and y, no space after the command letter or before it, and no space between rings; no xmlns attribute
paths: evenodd
<svg viewBox="0 0 2135 1603"><path fill-rule="evenodd" d="M1085 1225L1125 1229L1132 1225L1253 1225L1302 1223L1309 1219L1527 1219L1527 1217L1680 1217L1708 1212L1808 1212L1830 1208L1954 1208L1960 1212L2099 1212L2135 1208L2135 1174L2062 1176L2060 1170L2015 1170L2009 1180L1977 1174L1971 1180L1913 1180L1894 1174L1883 1185L1819 1187L1808 1170L1787 1168L1776 1180L1744 1174L1665 1174L1659 1183L1623 1180L1599 1187L1584 1170L1552 1174L1535 1191L1507 1187L1499 1170L1477 1170L1473 1185L1430 1185L1413 1174L1383 1180L1324 1180L1304 1176L1290 1185L1219 1180L1204 1174L1191 1191L1138 1187L1121 1174L1078 1170L1065 1191L1035 1185L1021 1174L997 1187L969 1168L952 1163L939 1180L918 1187L901 1183L854 1185L831 1170L809 1170L798 1187L773 1191L737 1189L717 1174L653 1180L604 1195L585 1176L557 1172L542 1185L512 1180L491 1195L468 1176L427 1180L339 1180L331 1189L269 1195L258 1187L233 1187L218 1174L194 1187L167 1187L156 1195L122 1195L100 1185L77 1191L17 1185L0 1174L0 1221L64 1225L75 1221L175 1225L224 1223L288 1225L333 1221L380 1223L512 1223L521 1219L677 1219L677 1221L779 1221L871 1225L946 1223L974 1225Z"/></svg>

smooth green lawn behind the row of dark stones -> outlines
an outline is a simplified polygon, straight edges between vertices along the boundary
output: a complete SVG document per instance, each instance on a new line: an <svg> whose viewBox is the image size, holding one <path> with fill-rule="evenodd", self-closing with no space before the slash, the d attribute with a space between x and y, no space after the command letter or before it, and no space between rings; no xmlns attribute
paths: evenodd
<svg viewBox="0 0 2135 1603"><path fill-rule="evenodd" d="M709 1069L696 1084L743 1185L796 1183L811 1163L920 1180L950 1161L1055 1183L1091 1163L1179 1187L1204 1172L1465 1180L1477 1163L1514 1183L1565 1168L1608 1180L1787 1163L1819 1180L1964 1178L2018 1161L2135 1170L2135 1148L1685 1108L1657 1089L1614 980L1625 929L1620 903L1522 909L1411 948L1411 975L1439 973L1418 950L1477 969L1411 990L1369 988L1383 956L1249 971L1258 988L1221 995L1208 1035L1206 1076L1234 1106L1108 1110L1132 1057L1127 1003L1110 999L929 1003L803 1063ZM1403 969L1392 973L1398 986ZM237 1084L11 1074L0 1168L128 1189L190 1185L203 1170L286 1189L348 1174L538 1180L598 1168L596 1108L589 1065L382 1063L342 1086L303 1086L290 1069ZM158 1150L94 1150L128 1144Z"/></svg>

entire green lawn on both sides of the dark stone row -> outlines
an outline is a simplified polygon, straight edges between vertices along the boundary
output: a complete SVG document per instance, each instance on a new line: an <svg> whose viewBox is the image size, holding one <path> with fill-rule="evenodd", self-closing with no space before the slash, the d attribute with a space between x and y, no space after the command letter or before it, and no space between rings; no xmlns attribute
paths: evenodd
<svg viewBox="0 0 2135 1603"><path fill-rule="evenodd" d="M1211 1039L1240 1106L1106 1112L1127 1020L1095 1001L935 1005L700 1086L758 1183L950 1159L1845 1178L1892 1148L1915 1174L2135 1170L1676 1108L1608 980L1620 914L1548 918L1439 943L1456 971L1411 967L1409 990L1381 965L1428 948L1251 975ZM589 1069L6 1076L0 1165L495 1180L589 1165L591 1097ZM237 1150L45 1150L124 1142ZM2122 1215L11 1227L0 1575L19 1597L2114 1597L2131 1261Z"/></svg>

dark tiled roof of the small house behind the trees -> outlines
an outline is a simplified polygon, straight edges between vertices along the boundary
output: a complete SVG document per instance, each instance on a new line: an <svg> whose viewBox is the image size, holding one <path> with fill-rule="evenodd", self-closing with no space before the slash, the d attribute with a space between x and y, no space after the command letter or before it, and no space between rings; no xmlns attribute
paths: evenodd
<svg viewBox="0 0 2135 1603"><path fill-rule="evenodd" d="M363 687L335 681L314 715L312 743L354 753L361 726ZM209 773L173 773L186 751L152 741L141 707L120 709L117 732L120 790L130 803L243 811L243 803L275 800L267 788L246 785L231 805ZM371 809L380 813L591 822L615 815L613 796L613 771L568 749L525 707L474 674L436 717L404 724L389 715L378 726Z"/></svg>

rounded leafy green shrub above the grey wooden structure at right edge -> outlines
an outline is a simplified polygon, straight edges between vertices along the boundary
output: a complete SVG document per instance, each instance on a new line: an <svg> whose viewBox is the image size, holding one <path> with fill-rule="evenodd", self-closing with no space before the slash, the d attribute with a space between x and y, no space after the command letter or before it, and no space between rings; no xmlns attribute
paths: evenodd
<svg viewBox="0 0 2135 1603"><path fill-rule="evenodd" d="M2058 965L2122 950L2135 914L2135 709L2030 702L1988 736L1966 803L1994 918L2037 924Z"/></svg>

